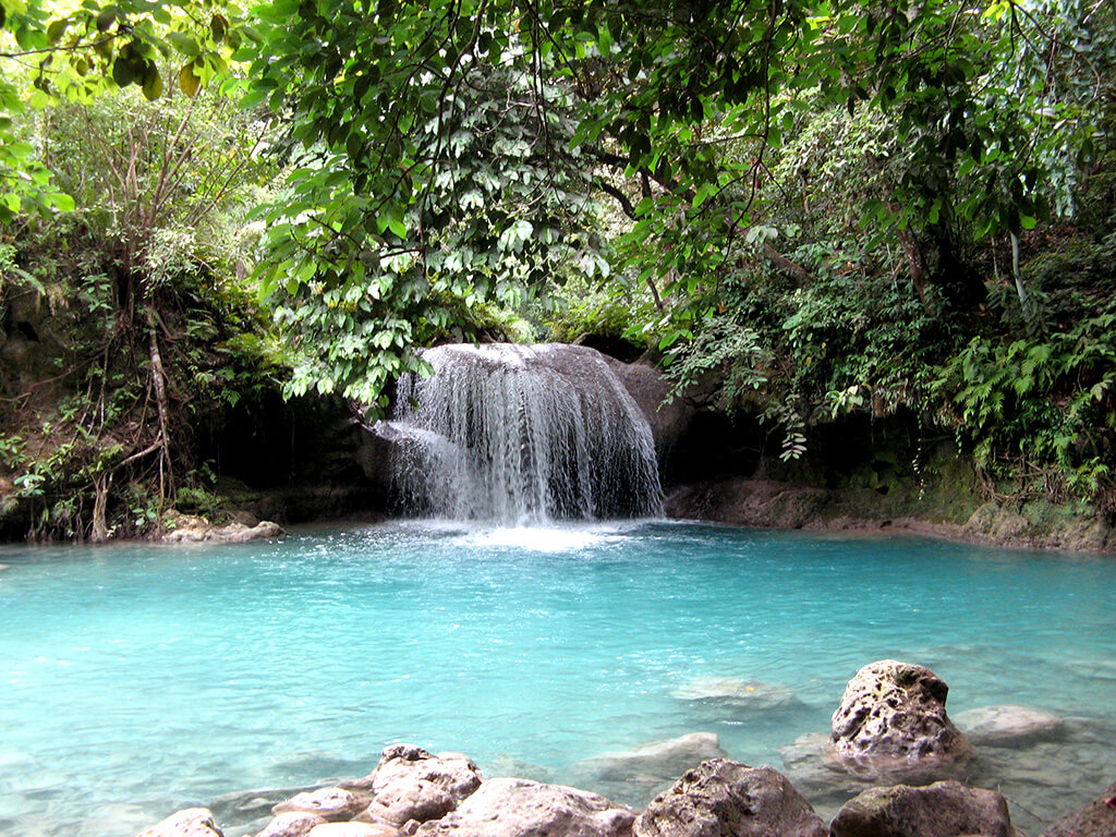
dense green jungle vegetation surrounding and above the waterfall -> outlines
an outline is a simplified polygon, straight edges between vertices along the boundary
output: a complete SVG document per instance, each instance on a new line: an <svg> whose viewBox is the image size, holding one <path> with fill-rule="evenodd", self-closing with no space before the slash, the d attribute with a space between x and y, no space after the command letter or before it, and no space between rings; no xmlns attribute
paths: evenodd
<svg viewBox="0 0 1116 837"><path fill-rule="evenodd" d="M448 339L623 338L777 452L1116 509L1106 0L0 0L0 518L220 504ZM238 413L239 411L239 413Z"/></svg>

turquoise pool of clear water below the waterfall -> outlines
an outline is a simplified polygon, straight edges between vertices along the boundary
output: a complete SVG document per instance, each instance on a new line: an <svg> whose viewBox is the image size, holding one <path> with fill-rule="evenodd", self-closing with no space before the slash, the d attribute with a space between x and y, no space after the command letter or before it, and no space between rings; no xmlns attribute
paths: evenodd
<svg viewBox="0 0 1116 837"><path fill-rule="evenodd" d="M1116 773L1112 559L685 523L397 523L0 548L0 564L6 835L132 835L230 790L364 775L394 741L638 804L647 787L594 788L583 760L709 731L779 767L884 657L934 668L952 714L1013 703L1077 719L1072 741L1033 756L1046 796L1016 800L1040 816ZM675 694L708 679L795 700ZM1094 787L1097 764L1112 769Z"/></svg>

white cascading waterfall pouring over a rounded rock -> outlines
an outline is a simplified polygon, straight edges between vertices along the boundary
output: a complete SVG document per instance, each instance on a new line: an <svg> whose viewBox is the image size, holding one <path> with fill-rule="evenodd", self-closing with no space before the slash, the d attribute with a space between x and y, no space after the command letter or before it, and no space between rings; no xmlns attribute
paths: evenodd
<svg viewBox="0 0 1116 837"><path fill-rule="evenodd" d="M434 375L398 382L393 484L410 513L502 525L657 517L646 417L595 349L426 349Z"/></svg>

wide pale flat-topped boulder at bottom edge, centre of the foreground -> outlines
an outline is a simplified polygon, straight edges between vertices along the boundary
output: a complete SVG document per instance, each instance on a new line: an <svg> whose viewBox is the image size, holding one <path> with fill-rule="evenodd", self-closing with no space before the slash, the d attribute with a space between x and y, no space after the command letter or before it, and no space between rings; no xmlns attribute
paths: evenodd
<svg viewBox="0 0 1116 837"><path fill-rule="evenodd" d="M490 779L419 837L629 837L635 812L597 793L529 779Z"/></svg>

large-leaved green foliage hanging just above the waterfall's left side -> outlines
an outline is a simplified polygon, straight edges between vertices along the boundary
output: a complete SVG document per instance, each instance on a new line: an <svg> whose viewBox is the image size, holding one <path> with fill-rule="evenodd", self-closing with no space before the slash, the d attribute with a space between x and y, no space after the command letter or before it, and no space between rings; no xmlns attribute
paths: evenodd
<svg viewBox="0 0 1116 837"><path fill-rule="evenodd" d="M299 335L290 392L375 404L391 378L420 368L412 346L474 338L480 306L522 308L573 264L607 272L589 177L555 165L571 129L568 95L530 71L513 37L493 39L463 12L432 13L427 44L468 22L472 48L499 58L459 56L456 77L434 80L415 59L422 33L410 18L385 15L377 27L338 9L291 26L295 9L261 10L268 51L249 99L272 90L278 105L298 92L289 141L300 145L267 214L263 275L277 321ZM327 30L314 61L283 55Z"/></svg>

